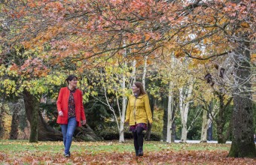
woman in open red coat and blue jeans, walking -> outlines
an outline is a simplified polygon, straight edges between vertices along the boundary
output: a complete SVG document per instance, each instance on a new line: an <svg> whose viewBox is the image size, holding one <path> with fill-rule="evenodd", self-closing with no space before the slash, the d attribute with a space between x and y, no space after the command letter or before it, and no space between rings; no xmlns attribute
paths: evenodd
<svg viewBox="0 0 256 165"><path fill-rule="evenodd" d="M70 75L66 82L67 87L60 89L57 100L58 118L57 123L60 124L63 142L65 146L65 157L70 157L70 146L72 144L72 136L75 127L81 127L81 124L86 124L84 114L82 92L76 89L78 77Z"/></svg>

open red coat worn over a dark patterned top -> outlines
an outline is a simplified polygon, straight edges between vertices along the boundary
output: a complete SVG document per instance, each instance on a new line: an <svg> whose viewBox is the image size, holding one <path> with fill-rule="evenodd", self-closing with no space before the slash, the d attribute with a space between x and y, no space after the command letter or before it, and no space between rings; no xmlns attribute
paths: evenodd
<svg viewBox="0 0 256 165"><path fill-rule="evenodd" d="M69 94L70 91L68 87L64 87L59 91L59 97L57 100L57 110L58 112L62 110L63 116L59 116L57 118L58 124L68 124L68 115L69 115ZM81 120L85 120L84 114L84 105L83 105L83 97L82 92L79 89L75 90L73 93L75 100L75 118L78 121L78 126L81 127Z"/></svg>

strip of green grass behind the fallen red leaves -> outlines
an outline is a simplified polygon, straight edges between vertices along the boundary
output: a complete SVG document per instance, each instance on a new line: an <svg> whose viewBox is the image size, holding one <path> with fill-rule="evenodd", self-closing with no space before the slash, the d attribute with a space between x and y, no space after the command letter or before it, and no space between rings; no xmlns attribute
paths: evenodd
<svg viewBox="0 0 256 165"><path fill-rule="evenodd" d="M147 151L229 151L230 144L213 144L213 143L166 143L166 142L145 142L144 148ZM30 143L26 140L1 140L0 151L9 152L43 152L50 151L58 153L63 150L62 142L38 142ZM133 151L133 141L126 142L105 141L105 142L72 142L71 151L88 151L91 153L99 152L124 152Z"/></svg>

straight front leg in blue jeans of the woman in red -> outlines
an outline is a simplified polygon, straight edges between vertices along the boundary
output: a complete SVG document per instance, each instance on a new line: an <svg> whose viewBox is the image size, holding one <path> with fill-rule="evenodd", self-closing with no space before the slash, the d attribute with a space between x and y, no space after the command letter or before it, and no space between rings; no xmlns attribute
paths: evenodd
<svg viewBox="0 0 256 165"><path fill-rule="evenodd" d="M72 144L72 137L75 131L75 127L77 126L77 121L75 117L69 118L68 127L66 131L66 144L65 144L65 155L67 157L70 156L70 146Z"/></svg>

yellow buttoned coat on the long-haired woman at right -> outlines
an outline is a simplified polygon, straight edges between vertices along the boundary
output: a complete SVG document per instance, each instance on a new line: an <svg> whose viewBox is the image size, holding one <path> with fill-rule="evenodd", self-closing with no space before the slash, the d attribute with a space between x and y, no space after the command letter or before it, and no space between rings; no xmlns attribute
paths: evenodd
<svg viewBox="0 0 256 165"><path fill-rule="evenodd" d="M139 95L138 98L134 95L130 95L126 108L125 122L129 122L130 125L135 125L139 123L148 124L148 121L152 123L152 113L148 95Z"/></svg>

